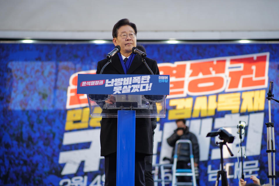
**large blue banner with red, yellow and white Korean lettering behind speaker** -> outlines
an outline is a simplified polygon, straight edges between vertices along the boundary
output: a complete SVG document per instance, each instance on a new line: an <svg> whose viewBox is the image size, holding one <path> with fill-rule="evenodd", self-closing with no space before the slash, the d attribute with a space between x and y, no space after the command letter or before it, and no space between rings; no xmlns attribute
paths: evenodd
<svg viewBox="0 0 279 186"><path fill-rule="evenodd" d="M215 142L220 140L206 135L223 127L235 136L228 144L234 156L225 147L223 158L229 185L237 185L237 124L245 121L245 179L251 183L255 175L268 183L266 97L273 81L274 98L279 98L279 44L143 45L147 57L158 62L160 75L170 75L166 117L157 119L154 134L153 164L168 163L163 158L171 157L172 148L166 139L177 127L175 120L184 118L198 138L200 185L214 185L220 170ZM113 48L0 44L0 185L104 184L101 118L90 118L87 96L77 94L77 74L95 74L97 62ZM275 148L278 106L271 101ZM278 166L276 158L277 175ZM167 171L166 175L171 176Z"/></svg>

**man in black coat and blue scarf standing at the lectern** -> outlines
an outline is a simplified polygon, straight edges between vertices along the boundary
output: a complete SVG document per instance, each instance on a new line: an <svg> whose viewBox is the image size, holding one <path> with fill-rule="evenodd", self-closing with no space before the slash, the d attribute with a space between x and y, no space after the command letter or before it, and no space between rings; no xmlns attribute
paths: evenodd
<svg viewBox="0 0 279 186"><path fill-rule="evenodd" d="M120 52L112 56L112 62L105 67L103 74L146 74L149 70L139 55L132 53L136 47L137 27L128 19L119 20L113 27L112 37ZM128 59L126 59L128 58ZM154 74L159 74L157 62L145 58L147 65ZM96 74L108 60L98 62ZM112 96L113 97L113 96ZM106 103L114 103L108 99ZM145 156L153 154L151 118L136 118L135 133L135 186L144 186ZM117 118L103 117L101 120L101 156L105 157L105 186L116 185L116 150L117 150Z"/></svg>

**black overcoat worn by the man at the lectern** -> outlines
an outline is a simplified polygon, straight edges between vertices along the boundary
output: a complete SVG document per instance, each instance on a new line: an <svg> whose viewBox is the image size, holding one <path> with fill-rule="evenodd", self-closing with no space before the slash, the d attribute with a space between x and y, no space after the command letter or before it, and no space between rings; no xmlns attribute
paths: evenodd
<svg viewBox="0 0 279 186"><path fill-rule="evenodd" d="M144 58L147 65L154 74L159 74L157 62L150 58ZM108 60L98 62L96 74L100 74L102 67ZM105 67L103 74L125 74L118 55L112 56L112 62ZM142 62L139 55L135 58L127 71L127 74L146 74L151 73ZM136 118L135 151L146 155L153 154L151 118ZM117 118L103 117L101 121L101 156L116 152L117 149Z"/></svg>

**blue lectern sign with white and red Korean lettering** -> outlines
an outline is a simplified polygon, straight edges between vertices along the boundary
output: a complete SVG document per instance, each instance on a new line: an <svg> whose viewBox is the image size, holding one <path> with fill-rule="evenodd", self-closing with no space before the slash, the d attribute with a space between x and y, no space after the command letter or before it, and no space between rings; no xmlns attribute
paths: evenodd
<svg viewBox="0 0 279 186"><path fill-rule="evenodd" d="M78 74L77 93L169 95L169 75Z"/></svg>

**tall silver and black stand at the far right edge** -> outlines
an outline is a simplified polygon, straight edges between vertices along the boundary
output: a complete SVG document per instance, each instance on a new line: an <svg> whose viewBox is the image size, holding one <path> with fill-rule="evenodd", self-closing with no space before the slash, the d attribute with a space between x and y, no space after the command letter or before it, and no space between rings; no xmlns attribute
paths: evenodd
<svg viewBox="0 0 279 186"><path fill-rule="evenodd" d="M279 103L279 100L273 99L272 94L273 91L273 82L271 81L269 84L269 91L267 93L267 100L268 100L268 114L269 114L269 122L265 123L267 126L267 157L268 157L268 178L269 178L269 185L272 185L272 178L273 178L273 185L275 186L275 137L274 137L274 123L271 122L271 99ZM273 175L272 175L272 159L271 153L273 153Z"/></svg>

